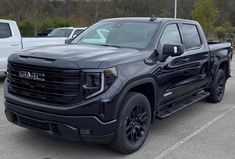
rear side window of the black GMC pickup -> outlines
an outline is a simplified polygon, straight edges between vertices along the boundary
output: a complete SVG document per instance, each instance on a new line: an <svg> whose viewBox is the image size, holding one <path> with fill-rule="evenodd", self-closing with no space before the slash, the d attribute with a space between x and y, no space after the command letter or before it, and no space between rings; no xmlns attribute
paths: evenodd
<svg viewBox="0 0 235 159"><path fill-rule="evenodd" d="M182 29L186 44L185 49L193 49L201 46L202 42L196 25L183 24Z"/></svg>

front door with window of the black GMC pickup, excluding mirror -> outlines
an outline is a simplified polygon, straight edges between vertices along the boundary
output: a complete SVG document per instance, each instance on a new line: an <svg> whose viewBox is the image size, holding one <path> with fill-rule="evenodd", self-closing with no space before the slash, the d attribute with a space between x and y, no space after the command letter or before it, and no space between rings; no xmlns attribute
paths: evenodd
<svg viewBox="0 0 235 159"><path fill-rule="evenodd" d="M158 44L158 52L160 54L162 54L163 46L165 44L183 45L179 24L172 23L165 27ZM162 56L164 57L164 55ZM189 79L190 72L190 70L188 70L189 67L187 67L189 57L184 53L175 57L168 56L161 62L162 77L160 85L162 87L160 91L160 105L164 105L184 96L187 92L187 88L185 86Z"/></svg>

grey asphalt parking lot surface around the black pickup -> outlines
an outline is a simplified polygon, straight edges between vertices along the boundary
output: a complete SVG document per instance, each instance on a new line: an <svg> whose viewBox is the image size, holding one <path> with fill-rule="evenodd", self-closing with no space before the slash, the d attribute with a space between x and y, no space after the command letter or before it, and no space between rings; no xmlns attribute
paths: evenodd
<svg viewBox="0 0 235 159"><path fill-rule="evenodd" d="M146 143L131 155L105 146L51 138L9 123L4 116L3 80L0 81L1 159L234 159L235 62L224 99L201 101L176 114L155 120Z"/></svg>

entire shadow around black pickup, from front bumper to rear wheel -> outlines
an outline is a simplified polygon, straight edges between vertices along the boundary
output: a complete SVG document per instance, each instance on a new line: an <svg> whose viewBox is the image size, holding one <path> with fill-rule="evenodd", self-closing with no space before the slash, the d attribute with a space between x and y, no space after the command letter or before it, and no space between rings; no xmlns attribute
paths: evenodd
<svg viewBox="0 0 235 159"><path fill-rule="evenodd" d="M190 122L195 120L198 115L210 109L210 104L205 101L198 102L189 106L178 113L163 119L156 119L150 130L149 137L145 145L136 153L131 155L119 154L112 151L105 145L97 145L83 142L70 142L62 139L53 138L27 129L15 132L14 143L20 143L20 147L30 149L30 152L42 154L44 158L143 158L148 155L158 154L164 149L174 144L183 136L191 133L195 128ZM200 122L200 121L199 121ZM17 134L16 134L17 133ZM169 141L165 141L169 139ZM150 153L150 151L154 153ZM25 153L25 152L24 152ZM79 156L79 157L78 157ZM142 156L142 157L141 157ZM152 157L153 157L152 156ZM151 158L152 158L151 157Z"/></svg>

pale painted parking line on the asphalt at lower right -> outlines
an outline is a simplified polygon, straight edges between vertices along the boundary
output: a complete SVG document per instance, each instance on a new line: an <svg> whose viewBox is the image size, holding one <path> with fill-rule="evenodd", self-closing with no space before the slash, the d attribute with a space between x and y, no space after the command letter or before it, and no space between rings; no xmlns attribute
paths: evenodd
<svg viewBox="0 0 235 159"><path fill-rule="evenodd" d="M205 130L208 127L210 127L216 121L220 120L221 118L223 118L224 116L226 116L227 114L232 112L233 110L235 110L235 106L230 107L225 112L223 112L220 115L218 115L217 117L213 118L210 122L206 123L205 125L201 126L196 131L194 131L191 134L189 134L188 136L184 137L182 140L180 140L177 143L175 143L174 145L170 146L168 149L166 149L165 151L163 151L159 155L155 156L154 159L163 159L163 158L165 158L168 154L170 154L171 152L173 152L174 150L179 148L181 145L183 145L184 143L186 143L187 141L189 141L190 139L192 139L193 137L195 137L196 135L201 133L203 130Z"/></svg>

